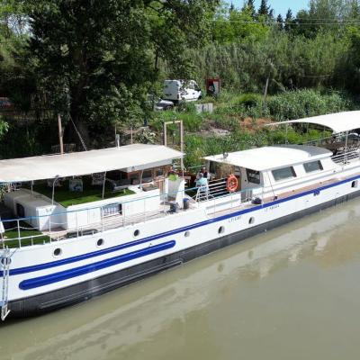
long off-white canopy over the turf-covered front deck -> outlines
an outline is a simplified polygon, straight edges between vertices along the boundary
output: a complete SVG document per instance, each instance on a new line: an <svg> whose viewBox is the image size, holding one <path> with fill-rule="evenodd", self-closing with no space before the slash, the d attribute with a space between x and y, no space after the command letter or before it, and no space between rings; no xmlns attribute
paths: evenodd
<svg viewBox="0 0 360 360"><path fill-rule="evenodd" d="M137 171L171 164L184 154L161 145L133 144L64 155L23 157L0 160L0 183L15 183L55 177Z"/></svg>

